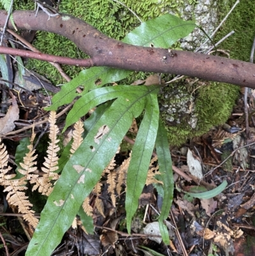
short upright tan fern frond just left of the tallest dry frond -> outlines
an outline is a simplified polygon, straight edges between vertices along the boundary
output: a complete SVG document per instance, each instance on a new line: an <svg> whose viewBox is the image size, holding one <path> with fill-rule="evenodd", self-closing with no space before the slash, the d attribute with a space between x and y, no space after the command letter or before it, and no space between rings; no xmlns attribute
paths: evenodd
<svg viewBox="0 0 255 256"><path fill-rule="evenodd" d="M25 154L23 163L20 163L21 169L20 168L18 169L18 172L20 172L20 174L23 174L26 180L36 179L38 177L38 175L36 174L31 174L31 172L34 172L37 169L35 167L36 161L34 161L37 158L37 154L34 154L35 149L33 150L33 142L35 137L36 137L36 134L34 133L34 128L33 128L30 144L29 146L27 146L27 148L29 149L29 152Z"/></svg>

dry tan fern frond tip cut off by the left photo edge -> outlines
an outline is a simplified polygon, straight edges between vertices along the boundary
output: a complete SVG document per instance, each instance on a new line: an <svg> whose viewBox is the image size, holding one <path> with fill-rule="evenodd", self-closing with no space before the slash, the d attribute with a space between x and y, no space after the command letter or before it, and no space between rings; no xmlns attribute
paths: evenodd
<svg viewBox="0 0 255 256"><path fill-rule="evenodd" d="M8 166L9 154L6 151L6 146L1 142L2 142L2 140L0 138L0 185L4 186L4 182L6 180L12 179L16 175L15 174L7 174L7 172L9 170L11 170L11 167Z"/></svg>

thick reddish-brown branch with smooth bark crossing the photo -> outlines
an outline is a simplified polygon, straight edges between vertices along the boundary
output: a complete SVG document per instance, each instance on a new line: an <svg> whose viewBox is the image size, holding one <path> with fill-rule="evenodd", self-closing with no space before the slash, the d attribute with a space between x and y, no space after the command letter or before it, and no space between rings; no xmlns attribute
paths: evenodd
<svg viewBox="0 0 255 256"><path fill-rule="evenodd" d="M0 11L1 27L6 16L6 11ZM187 75L255 88L255 64L252 63L181 50L168 52L168 49L128 45L108 38L91 25L66 14L48 19L43 11L39 11L37 17L35 11L14 11L13 19L20 29L65 36L91 57L92 66ZM8 27L13 28L11 22ZM3 48L1 50L3 53Z"/></svg>

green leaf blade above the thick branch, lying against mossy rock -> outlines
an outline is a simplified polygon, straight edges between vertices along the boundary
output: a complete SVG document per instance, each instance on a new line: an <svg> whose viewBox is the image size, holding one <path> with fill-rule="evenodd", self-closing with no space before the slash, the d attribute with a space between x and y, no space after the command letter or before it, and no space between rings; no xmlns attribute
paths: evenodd
<svg viewBox="0 0 255 256"><path fill-rule="evenodd" d="M191 33L195 27L194 22L185 21L167 13L143 22L128 33L123 41L131 45L168 48L175 41Z"/></svg>

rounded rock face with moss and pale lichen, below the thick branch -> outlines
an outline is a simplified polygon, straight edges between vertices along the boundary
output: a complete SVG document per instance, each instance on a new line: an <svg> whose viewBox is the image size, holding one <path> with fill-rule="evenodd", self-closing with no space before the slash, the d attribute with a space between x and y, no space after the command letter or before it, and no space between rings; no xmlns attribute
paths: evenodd
<svg viewBox="0 0 255 256"><path fill-rule="evenodd" d="M191 94L191 89L196 89L195 94ZM183 81L164 89L159 102L170 144L179 146L224 123L235 105L238 91L237 86L216 82L201 86L201 81L192 88Z"/></svg>

